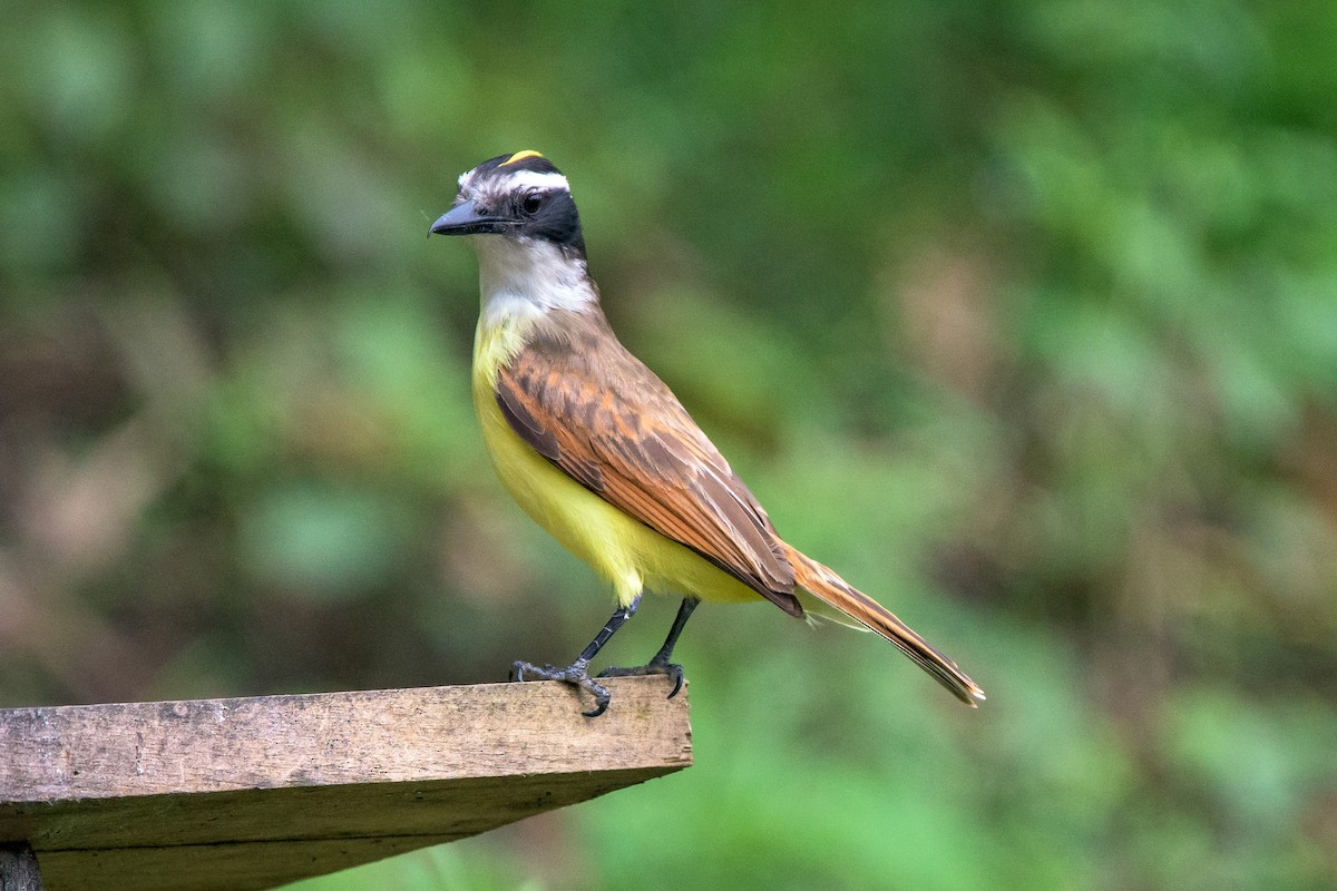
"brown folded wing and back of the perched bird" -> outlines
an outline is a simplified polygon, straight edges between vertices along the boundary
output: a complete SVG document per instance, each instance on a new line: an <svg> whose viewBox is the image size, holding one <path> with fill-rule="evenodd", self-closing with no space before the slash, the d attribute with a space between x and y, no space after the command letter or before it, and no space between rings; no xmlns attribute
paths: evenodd
<svg viewBox="0 0 1337 891"><path fill-rule="evenodd" d="M600 314L552 317L497 375L511 427L580 485L801 616L766 512L677 397Z"/></svg>

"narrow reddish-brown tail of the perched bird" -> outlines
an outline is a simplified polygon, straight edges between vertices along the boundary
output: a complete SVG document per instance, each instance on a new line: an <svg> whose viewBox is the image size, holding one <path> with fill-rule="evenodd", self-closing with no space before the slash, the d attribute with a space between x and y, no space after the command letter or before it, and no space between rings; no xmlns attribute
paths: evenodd
<svg viewBox="0 0 1337 891"><path fill-rule="evenodd" d="M834 572L789 545L783 548L789 562L794 566L796 586L896 644L902 653L971 708L980 704L984 691L967 677L956 663L929 647L928 641L910 631L905 622L864 592L852 588Z"/></svg>

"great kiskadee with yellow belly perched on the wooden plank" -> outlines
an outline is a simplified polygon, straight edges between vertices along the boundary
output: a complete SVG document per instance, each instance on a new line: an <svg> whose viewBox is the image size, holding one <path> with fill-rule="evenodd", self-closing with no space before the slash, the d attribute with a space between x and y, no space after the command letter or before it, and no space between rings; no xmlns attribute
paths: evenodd
<svg viewBox="0 0 1337 891"><path fill-rule="evenodd" d="M618 609L566 668L516 663L516 680L608 691L590 661L644 590L683 597L648 664L599 677L667 675L702 600L765 598L873 631L961 701L981 691L872 597L787 545L762 506L655 374L627 351L599 309L567 178L536 151L499 155L460 176L453 207L432 224L467 235L479 255L481 313L473 342L473 403L497 476L540 526L612 582Z"/></svg>

